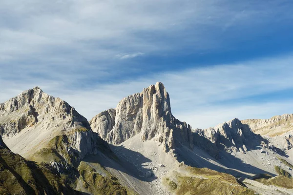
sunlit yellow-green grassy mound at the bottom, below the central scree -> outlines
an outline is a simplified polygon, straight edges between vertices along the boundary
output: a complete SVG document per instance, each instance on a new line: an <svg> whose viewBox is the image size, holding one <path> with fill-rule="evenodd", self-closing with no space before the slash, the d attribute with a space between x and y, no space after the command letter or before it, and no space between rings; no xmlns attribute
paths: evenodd
<svg viewBox="0 0 293 195"><path fill-rule="evenodd" d="M188 174L186 174L188 173ZM165 185L176 195L254 195L235 177L208 168L187 167L165 178Z"/></svg>

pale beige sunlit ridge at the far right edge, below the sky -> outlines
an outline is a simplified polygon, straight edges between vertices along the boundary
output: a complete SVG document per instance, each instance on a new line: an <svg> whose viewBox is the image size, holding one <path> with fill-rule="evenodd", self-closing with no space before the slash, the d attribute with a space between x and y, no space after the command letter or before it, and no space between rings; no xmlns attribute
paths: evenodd
<svg viewBox="0 0 293 195"><path fill-rule="evenodd" d="M262 136L280 136L293 130L293 114L274 116L270 119L241 120L247 124L255 134Z"/></svg>

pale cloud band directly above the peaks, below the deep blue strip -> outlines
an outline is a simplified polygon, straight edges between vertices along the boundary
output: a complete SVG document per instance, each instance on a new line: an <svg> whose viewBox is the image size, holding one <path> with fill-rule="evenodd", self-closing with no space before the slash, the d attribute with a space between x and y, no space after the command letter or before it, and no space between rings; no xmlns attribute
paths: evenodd
<svg viewBox="0 0 293 195"><path fill-rule="evenodd" d="M115 108L122 98L161 81L170 95L173 115L187 121L193 128L206 128L234 117L269 118L293 113L290 98L250 99L270 93L284 93L284 90L293 91L292 63L293 57L289 55L150 74L132 80L101 83L91 88L67 88L63 83L44 79L28 83L0 80L5 85L0 89L0 101L39 85L45 92L63 98L90 119L106 109ZM64 79L69 80L70 77Z"/></svg>

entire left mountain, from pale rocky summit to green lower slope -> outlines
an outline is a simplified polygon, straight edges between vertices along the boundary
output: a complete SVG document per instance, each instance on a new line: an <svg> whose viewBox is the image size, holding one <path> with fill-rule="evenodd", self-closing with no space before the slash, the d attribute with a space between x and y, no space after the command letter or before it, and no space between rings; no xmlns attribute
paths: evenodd
<svg viewBox="0 0 293 195"><path fill-rule="evenodd" d="M64 185L92 195L135 194L125 189L107 171L102 174L89 162L83 161L86 156L92 156L89 161L104 169L95 154L102 154L113 161L117 158L108 144L91 130L88 121L73 107L60 98L45 94L38 87L0 104L0 129L11 151L48 167L64 179ZM2 140L0 144L4 146ZM11 163L18 164L23 160L16 158ZM7 184L7 187L11 185ZM16 188L21 190L20 186Z"/></svg>

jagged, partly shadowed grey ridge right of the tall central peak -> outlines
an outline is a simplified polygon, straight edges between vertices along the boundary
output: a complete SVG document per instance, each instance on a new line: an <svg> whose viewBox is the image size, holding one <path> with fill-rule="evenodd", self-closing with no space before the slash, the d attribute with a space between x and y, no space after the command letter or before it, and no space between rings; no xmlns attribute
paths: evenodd
<svg viewBox="0 0 293 195"><path fill-rule="evenodd" d="M218 150L225 150L228 153L245 153L256 145L275 149L268 145L266 139L254 134L247 124L243 124L237 118L221 123L214 128L194 129L193 132L194 144L214 157L218 157Z"/></svg>

